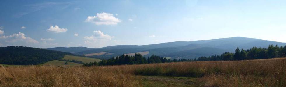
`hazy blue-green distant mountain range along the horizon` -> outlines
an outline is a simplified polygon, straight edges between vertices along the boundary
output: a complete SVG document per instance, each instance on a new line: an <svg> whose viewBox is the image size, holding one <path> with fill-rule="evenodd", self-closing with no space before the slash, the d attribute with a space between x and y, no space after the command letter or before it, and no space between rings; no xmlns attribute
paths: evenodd
<svg viewBox="0 0 286 87"><path fill-rule="evenodd" d="M89 54L92 57L108 59L116 57L120 54L144 53L144 56L158 55L170 57L172 59L191 59L201 56L219 55L223 52L233 52L237 47L249 49L252 47L267 48L270 44L285 46L286 43L267 41L246 37L230 37L212 40L200 41L177 41L161 44L150 45L116 45L103 48L86 48L86 47L57 47L48 48L48 50L56 50L62 52L70 52L74 54Z"/></svg>

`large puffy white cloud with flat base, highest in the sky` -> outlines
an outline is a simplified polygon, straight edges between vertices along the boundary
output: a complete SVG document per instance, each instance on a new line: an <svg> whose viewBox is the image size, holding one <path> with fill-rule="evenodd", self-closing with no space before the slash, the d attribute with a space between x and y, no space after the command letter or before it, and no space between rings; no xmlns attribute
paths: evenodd
<svg viewBox="0 0 286 87"><path fill-rule="evenodd" d="M88 16L85 22L95 23L96 25L116 25L121 21L113 14L102 12L97 13L96 16Z"/></svg>

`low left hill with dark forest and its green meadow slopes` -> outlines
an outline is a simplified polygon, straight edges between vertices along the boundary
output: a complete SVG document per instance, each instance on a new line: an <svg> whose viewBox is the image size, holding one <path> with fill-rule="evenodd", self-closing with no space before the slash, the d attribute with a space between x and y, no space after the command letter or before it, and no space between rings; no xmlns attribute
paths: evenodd
<svg viewBox="0 0 286 87"><path fill-rule="evenodd" d="M62 60L61 60L62 59ZM31 48L25 46L0 47L0 64L10 65L38 65L55 64L60 65L65 62L74 65L82 65L100 59L74 55L68 52ZM64 62L64 63L62 63Z"/></svg>

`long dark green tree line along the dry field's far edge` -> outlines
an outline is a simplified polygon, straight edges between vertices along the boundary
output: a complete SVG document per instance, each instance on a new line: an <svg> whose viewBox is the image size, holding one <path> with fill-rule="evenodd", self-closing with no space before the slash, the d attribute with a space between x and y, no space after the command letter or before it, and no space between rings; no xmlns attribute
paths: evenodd
<svg viewBox="0 0 286 87"><path fill-rule="evenodd" d="M85 63L83 66L105 66L105 65L125 65L125 64L152 64L152 63L168 63L182 61L230 61L230 60L250 60L250 59L268 59L286 56L286 46L269 45L268 48L252 47L251 49L237 48L234 53L224 52L221 55L212 55L209 57L199 57L198 59L167 59L152 55L151 57L143 57L141 54L135 53L134 56L120 55L112 57L108 60L103 59L100 62Z"/></svg>

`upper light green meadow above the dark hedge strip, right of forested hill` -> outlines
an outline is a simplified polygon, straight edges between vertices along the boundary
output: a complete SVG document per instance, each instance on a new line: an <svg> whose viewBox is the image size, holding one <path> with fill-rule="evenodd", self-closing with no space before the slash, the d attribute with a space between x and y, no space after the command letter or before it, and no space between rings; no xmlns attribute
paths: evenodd
<svg viewBox="0 0 286 87"><path fill-rule="evenodd" d="M89 58L89 57L79 57L79 56L71 56L71 55L65 55L63 59L69 59L69 60L77 60L77 61L82 61L84 63L89 63L89 62L94 62L97 61L99 62L100 59L95 59L95 58Z"/></svg>

